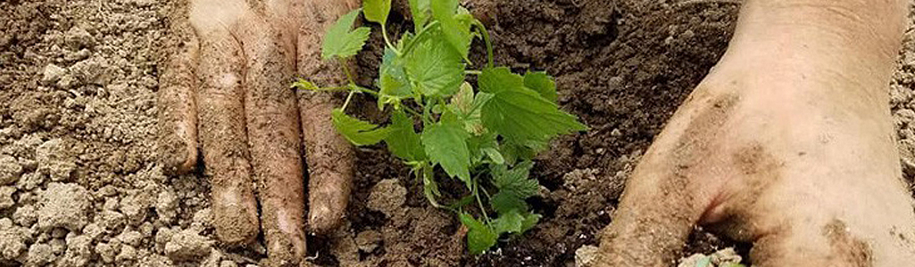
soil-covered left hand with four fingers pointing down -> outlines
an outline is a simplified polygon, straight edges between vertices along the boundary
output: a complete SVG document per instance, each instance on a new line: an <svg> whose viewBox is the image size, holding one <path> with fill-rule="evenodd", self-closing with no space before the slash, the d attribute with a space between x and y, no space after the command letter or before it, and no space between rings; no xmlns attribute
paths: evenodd
<svg viewBox="0 0 915 267"><path fill-rule="evenodd" d="M160 81L164 169L195 167L199 133L220 241L247 244L263 229L271 262L300 262L306 253L300 139L307 148L309 231L329 231L341 221L353 155L331 125L334 99L290 85L296 75L328 84L344 78L331 75L340 73L338 66L320 60L320 40L358 1L188 2L172 15L175 53Z"/></svg>

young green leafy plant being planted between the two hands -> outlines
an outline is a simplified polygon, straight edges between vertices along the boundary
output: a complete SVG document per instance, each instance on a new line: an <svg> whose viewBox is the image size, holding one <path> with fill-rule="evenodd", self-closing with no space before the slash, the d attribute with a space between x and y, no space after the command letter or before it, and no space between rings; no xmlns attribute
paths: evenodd
<svg viewBox="0 0 915 267"><path fill-rule="evenodd" d="M368 21L381 25L385 42L378 90L356 85L344 64L369 37L368 27L351 29L360 10L341 16L328 29L322 46L322 57L339 60L349 84L318 87L299 80L294 86L349 91L343 107L332 112L334 126L355 145L384 141L393 155L411 166L424 183L425 198L458 213L468 228L470 252L485 252L503 233L531 229L540 220L525 202L539 190L537 180L528 177L531 160L550 139L587 129L558 108L553 78L544 72L518 75L495 67L486 28L458 0L410 0L416 31L404 33L396 43L388 39L385 26L391 0L365 0L362 7ZM481 38L487 50L487 64L479 70L467 68L475 38ZM479 90L465 81L466 76L477 77ZM356 93L375 96L382 110L390 107L390 124L375 125L347 115L344 110ZM436 165L463 181L469 194L454 203L439 203ZM478 216L468 209L474 205Z"/></svg>

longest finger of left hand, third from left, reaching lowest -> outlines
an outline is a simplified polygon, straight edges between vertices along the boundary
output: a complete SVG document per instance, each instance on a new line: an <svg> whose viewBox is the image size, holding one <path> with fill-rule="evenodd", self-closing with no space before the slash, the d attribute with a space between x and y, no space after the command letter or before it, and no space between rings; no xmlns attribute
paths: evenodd
<svg viewBox="0 0 915 267"><path fill-rule="evenodd" d="M305 188L299 137L295 49L289 34L264 16L250 16L237 36L247 56L245 118L262 205L261 223L272 262L299 262L306 252Z"/></svg>

